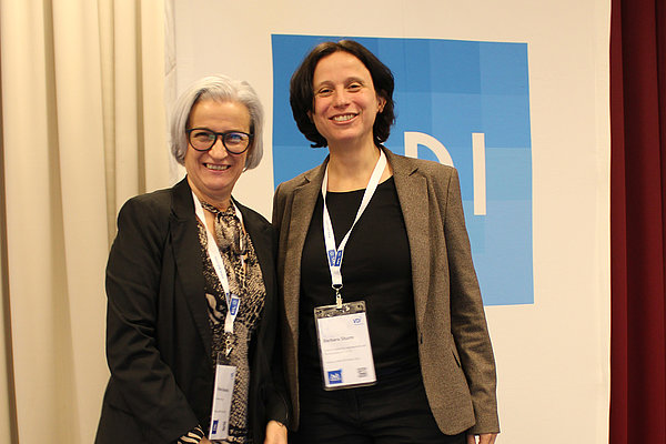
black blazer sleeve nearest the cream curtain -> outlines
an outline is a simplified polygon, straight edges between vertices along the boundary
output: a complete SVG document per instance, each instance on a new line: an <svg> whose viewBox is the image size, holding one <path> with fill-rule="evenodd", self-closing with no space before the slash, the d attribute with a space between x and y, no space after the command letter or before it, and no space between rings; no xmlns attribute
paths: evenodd
<svg viewBox="0 0 666 444"><path fill-rule="evenodd" d="M120 211L107 265L107 359L121 410L150 443L172 442L199 421L160 356L158 299L169 204L134 198Z"/></svg>

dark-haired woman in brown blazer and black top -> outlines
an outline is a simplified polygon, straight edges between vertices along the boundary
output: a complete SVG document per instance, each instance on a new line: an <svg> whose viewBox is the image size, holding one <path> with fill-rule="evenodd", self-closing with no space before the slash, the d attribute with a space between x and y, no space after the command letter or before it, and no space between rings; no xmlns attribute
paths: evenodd
<svg viewBox="0 0 666 444"><path fill-rule="evenodd" d="M455 169L393 154L391 71L315 47L291 105L324 163L275 191L295 443L481 443L496 377Z"/></svg>

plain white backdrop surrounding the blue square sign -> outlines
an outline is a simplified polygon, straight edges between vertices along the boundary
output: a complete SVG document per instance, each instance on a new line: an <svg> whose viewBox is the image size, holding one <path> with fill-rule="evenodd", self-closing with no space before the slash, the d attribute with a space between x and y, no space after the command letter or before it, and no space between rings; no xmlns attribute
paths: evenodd
<svg viewBox="0 0 666 444"><path fill-rule="evenodd" d="M268 218L272 33L527 42L535 303L486 309L504 443L608 441L609 8L608 0L175 0L178 90L222 72L250 81L266 108L264 160L234 195Z"/></svg>

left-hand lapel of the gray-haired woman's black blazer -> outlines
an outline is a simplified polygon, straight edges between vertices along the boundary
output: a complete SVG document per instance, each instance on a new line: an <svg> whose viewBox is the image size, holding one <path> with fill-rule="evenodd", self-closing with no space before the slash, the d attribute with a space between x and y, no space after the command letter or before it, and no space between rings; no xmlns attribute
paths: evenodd
<svg viewBox="0 0 666 444"><path fill-rule="evenodd" d="M196 329L203 340L206 356L211 360L212 333L204 297L203 265L199 228L194 215L192 191L186 178L173 186L171 206L171 239L175 261L175 281L180 283ZM212 361L211 361L212 362Z"/></svg>

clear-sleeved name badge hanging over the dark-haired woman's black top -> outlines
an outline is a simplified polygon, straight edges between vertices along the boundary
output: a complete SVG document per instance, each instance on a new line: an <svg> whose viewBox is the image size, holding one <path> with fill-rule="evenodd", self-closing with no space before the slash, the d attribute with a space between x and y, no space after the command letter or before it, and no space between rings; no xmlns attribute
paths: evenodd
<svg viewBox="0 0 666 444"><path fill-rule="evenodd" d="M376 382L365 302L314 309L324 390Z"/></svg>

